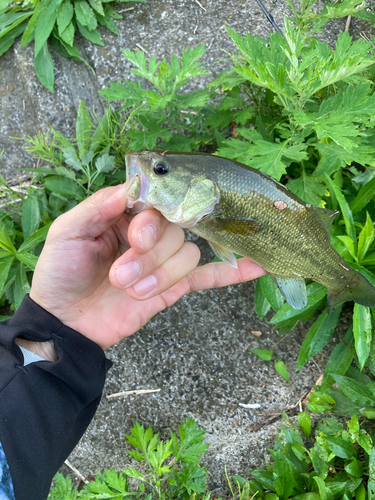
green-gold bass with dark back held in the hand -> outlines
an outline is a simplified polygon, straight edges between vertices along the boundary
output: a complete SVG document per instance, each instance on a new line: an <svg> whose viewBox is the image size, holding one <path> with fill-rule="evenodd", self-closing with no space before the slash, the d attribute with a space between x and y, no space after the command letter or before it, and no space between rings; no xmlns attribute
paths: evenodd
<svg viewBox="0 0 375 500"><path fill-rule="evenodd" d="M237 267L235 254L263 267L295 309L307 304L305 280L327 288L328 311L353 300L375 307L375 288L331 245L339 213L304 202L271 176L204 153L129 151L128 211L155 208L206 239Z"/></svg>

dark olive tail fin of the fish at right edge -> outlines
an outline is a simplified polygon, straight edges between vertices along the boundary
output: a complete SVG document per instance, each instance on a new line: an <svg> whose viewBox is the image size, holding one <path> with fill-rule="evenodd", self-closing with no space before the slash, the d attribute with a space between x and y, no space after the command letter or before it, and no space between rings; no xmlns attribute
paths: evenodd
<svg viewBox="0 0 375 500"><path fill-rule="evenodd" d="M375 307L375 287L371 285L361 273L351 269L352 279L345 288L339 292L328 289L328 312L348 300L366 307Z"/></svg>

